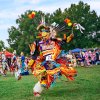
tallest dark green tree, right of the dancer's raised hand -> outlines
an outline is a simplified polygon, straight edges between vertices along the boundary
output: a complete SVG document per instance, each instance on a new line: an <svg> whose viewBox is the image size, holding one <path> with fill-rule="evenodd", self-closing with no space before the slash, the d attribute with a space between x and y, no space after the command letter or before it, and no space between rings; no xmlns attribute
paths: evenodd
<svg viewBox="0 0 100 100"><path fill-rule="evenodd" d="M97 34L97 31L100 30L100 28L97 29L98 16L96 12L94 10L91 11L90 6L87 3L80 1L78 5L72 4L70 8L65 9L64 16L65 15L67 15L72 22L80 23L85 28L84 33L81 34L78 30L74 31L75 38L69 48L84 48L95 45L95 42L93 41L93 33L96 32ZM95 37L95 39L97 37Z"/></svg>

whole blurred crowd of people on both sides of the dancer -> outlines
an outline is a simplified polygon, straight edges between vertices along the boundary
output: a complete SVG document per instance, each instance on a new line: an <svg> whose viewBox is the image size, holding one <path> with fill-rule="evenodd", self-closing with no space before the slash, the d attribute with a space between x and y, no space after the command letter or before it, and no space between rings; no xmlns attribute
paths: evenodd
<svg viewBox="0 0 100 100"><path fill-rule="evenodd" d="M84 66L91 67L92 65L100 65L100 49L86 50L83 52L71 52L71 50L64 55L60 55L68 61L68 66ZM25 57L21 52L20 56L16 56L16 52L13 52L12 57L6 57L5 50L0 54L0 74L6 76L7 71L10 71L14 75L16 72L20 72L21 75L29 75L28 62L30 58Z"/></svg>

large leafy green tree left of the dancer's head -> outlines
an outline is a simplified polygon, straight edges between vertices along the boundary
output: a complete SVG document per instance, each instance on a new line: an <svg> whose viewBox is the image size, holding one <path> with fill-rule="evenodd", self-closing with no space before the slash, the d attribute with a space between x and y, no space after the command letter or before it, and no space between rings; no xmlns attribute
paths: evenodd
<svg viewBox="0 0 100 100"><path fill-rule="evenodd" d="M18 54L20 52L29 53L29 43L32 43L37 36L37 26L41 20L41 11L36 12L36 16L34 19L30 19L28 14L32 11L26 11L24 14L19 16L16 19L16 24L18 28L12 26L8 29L9 39L8 43L14 50L17 51Z"/></svg>

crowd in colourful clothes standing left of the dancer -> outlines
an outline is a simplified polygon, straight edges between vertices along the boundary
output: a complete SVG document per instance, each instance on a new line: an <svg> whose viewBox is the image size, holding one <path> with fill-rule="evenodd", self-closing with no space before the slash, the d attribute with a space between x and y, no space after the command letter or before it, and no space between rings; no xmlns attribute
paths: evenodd
<svg viewBox="0 0 100 100"><path fill-rule="evenodd" d="M28 75L28 58L21 52L20 56L16 56L16 52L13 52L13 56L9 57L5 55L5 50L0 54L0 74L6 76L7 71L11 74L20 71L21 75Z"/></svg>

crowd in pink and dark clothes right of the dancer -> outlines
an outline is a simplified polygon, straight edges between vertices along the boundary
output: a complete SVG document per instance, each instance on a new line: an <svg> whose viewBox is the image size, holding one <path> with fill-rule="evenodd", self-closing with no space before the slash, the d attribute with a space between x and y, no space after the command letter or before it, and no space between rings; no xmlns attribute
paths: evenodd
<svg viewBox="0 0 100 100"><path fill-rule="evenodd" d="M72 53L69 51L69 53L66 55L67 59L69 59L69 62L72 66L85 66L90 67L92 65L100 65L100 49L90 49L83 52L80 50L80 52L74 52Z"/></svg>

